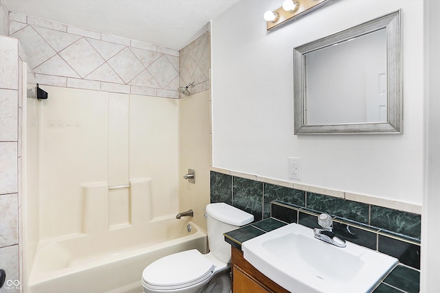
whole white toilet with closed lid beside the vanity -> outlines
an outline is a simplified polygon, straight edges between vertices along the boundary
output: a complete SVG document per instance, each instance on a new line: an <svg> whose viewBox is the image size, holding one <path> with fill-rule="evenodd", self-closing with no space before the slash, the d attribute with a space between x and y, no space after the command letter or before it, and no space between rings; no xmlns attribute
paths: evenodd
<svg viewBox="0 0 440 293"><path fill-rule="evenodd" d="M249 224L254 216L223 202L206 206L210 253L186 250L157 259L142 272L145 293L230 293L231 247L223 233Z"/></svg>

